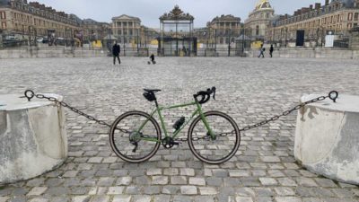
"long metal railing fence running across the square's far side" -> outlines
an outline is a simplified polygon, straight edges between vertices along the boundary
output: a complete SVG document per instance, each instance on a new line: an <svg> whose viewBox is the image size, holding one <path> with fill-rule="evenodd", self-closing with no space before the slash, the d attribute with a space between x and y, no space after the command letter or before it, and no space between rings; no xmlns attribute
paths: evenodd
<svg viewBox="0 0 359 202"><path fill-rule="evenodd" d="M198 57L241 57L250 50L257 50L260 44L264 44L265 48L271 44L275 48L321 48L328 45L328 39L333 40L331 47L333 48L350 48L351 37L353 36L347 29L328 31L319 29L316 31L302 31L302 45L298 46L299 31L284 31L278 34L276 31L253 31L251 29L241 29L233 34L232 31L212 31L215 34L194 35L197 38L197 47L188 51L181 49L172 49L169 56L198 56ZM263 33L266 33L263 35ZM155 56L163 56L163 50L157 48L152 42L155 41L157 35L144 33L144 39L136 38L131 43L124 44L125 40L120 40L121 56L143 56L149 57L151 54ZM332 36L332 37L330 37ZM82 50L102 50L111 56L111 49L116 38L110 40L101 40L101 46L97 47L92 44L93 41L84 41L85 43L78 46L74 40L57 40L54 44L48 41L41 41L31 37L28 39L16 39L12 35L4 35L0 33L0 48L29 48L36 47L39 49L82 49ZM130 42L130 41L127 41Z"/></svg>

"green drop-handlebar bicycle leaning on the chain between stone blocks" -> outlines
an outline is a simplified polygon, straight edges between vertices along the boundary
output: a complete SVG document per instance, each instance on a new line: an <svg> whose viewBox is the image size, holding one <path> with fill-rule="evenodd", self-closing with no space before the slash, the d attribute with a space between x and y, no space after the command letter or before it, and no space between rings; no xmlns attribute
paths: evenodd
<svg viewBox="0 0 359 202"><path fill-rule="evenodd" d="M209 101L212 94L215 100L215 87L197 92L193 102L170 107L159 106L155 92L161 92L161 90L144 89L144 97L148 101L154 101L156 106L151 114L137 110L128 111L119 116L111 125L109 143L118 157L127 162L144 162L156 154L160 145L167 149L173 145L179 145L175 138L192 119L188 129L188 146L197 159L210 164L218 164L230 160L236 154L241 143L241 135L235 121L220 111L202 111L201 105ZM187 121L184 117L177 120L173 125L174 132L169 136L162 110L188 106L197 106L197 110ZM161 121L164 138L161 135L160 125L153 119L156 112Z"/></svg>

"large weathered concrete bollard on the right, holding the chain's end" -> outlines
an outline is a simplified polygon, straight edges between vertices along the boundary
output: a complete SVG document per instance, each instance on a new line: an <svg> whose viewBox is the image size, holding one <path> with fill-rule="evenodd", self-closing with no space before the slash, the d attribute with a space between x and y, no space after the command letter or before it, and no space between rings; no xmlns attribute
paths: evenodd
<svg viewBox="0 0 359 202"><path fill-rule="evenodd" d="M294 156L309 171L359 185L359 97L340 94L337 102L327 99L299 110Z"/></svg>

